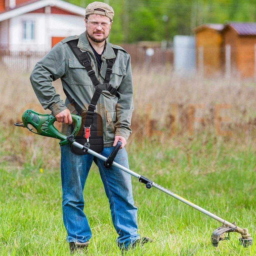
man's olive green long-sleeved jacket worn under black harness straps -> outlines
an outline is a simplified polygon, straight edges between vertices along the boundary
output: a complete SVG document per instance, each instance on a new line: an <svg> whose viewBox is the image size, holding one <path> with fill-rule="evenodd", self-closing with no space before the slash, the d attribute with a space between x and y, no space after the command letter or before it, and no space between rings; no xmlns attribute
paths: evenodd
<svg viewBox="0 0 256 256"><path fill-rule="evenodd" d="M106 59L115 57L113 48L118 49L115 63L110 76L110 84L117 89L119 97L107 90L102 91L95 112L102 116L104 146L112 146L115 135L121 135L128 139L131 134L131 117L133 112L133 82L131 73L131 57L120 46L106 42L102 54L102 66L98 71L96 58L90 47L86 33L80 36L69 36L56 44L34 67L30 82L36 96L44 109L49 109L53 115L68 108L71 113L77 113L75 108L66 98L65 103L60 99L52 85L52 81L60 78L63 88L84 110L95 92L92 81L67 42L79 38L78 48L82 52L88 51L96 77L103 83L107 63ZM61 132L69 134L71 126L62 124Z"/></svg>

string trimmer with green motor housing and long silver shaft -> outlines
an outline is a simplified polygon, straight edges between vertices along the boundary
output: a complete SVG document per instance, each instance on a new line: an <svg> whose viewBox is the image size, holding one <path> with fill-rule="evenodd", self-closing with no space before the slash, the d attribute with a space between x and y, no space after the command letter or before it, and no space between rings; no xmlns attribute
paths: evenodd
<svg viewBox="0 0 256 256"><path fill-rule="evenodd" d="M84 152L88 152L89 154L92 154L93 156L98 157L99 159L105 161L104 166L106 168L110 168L112 165L123 170L124 172L127 172L131 174L132 176L139 179L139 182L144 183L146 185L147 189L150 189L151 187L155 187L156 189L159 189L160 191L166 193L167 195L170 195L171 197L174 197L178 199L179 201L185 203L186 205L189 205L196 210L199 210L200 212L208 215L209 217L213 218L214 220L217 220L222 224L219 228L215 229L212 232L211 236L211 242L214 247L218 246L218 242L222 240L228 240L229 239L229 233L230 232L237 232L241 234L241 237L239 238L241 245L244 247L247 247L248 245L252 244L252 238L251 235L248 233L247 228L239 228L235 222L230 223L215 214L208 212L207 210L199 207L198 205L195 205L188 200L184 199L183 197L180 197L179 195L176 195L172 191L156 184L155 182L151 181L150 179L147 179L146 177L137 174L136 172L133 172L124 166L121 166L120 164L114 162L115 156L121 146L121 142L117 143L117 145L114 147L113 151L111 152L110 156L108 158L102 156L101 154L98 154L90 149L90 143L87 142L86 144L82 145L80 143L77 143L75 141L75 136L79 132L80 126L81 126L81 117L79 115L71 114L71 117L73 119L73 126L74 130L70 136L64 135L63 133L59 132L54 127L54 122L56 121L56 118L54 115L51 114L38 114L34 112L33 110L26 110L22 115L22 122L15 123L16 126L21 126L28 128L33 133L43 135L46 137L53 137L56 139L61 140L59 144L61 146L65 144L73 144L74 146L82 149ZM32 126L32 127L31 127ZM36 131L33 131L33 129L36 129ZM225 233L228 233L228 236L225 236Z"/></svg>

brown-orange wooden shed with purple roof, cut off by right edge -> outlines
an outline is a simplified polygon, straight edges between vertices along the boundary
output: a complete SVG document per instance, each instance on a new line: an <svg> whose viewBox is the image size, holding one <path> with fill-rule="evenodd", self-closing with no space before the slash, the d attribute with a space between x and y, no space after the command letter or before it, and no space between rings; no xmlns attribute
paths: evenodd
<svg viewBox="0 0 256 256"><path fill-rule="evenodd" d="M222 30L226 73L241 78L256 76L256 23L231 22ZM228 70L227 70L228 69Z"/></svg>

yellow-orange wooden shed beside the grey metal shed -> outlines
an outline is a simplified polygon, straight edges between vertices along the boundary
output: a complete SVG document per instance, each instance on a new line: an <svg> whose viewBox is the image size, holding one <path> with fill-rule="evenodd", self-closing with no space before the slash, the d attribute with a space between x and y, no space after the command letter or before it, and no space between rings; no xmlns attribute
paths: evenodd
<svg viewBox="0 0 256 256"><path fill-rule="evenodd" d="M223 65L222 24L204 24L195 28L196 60L199 72L216 76Z"/></svg>

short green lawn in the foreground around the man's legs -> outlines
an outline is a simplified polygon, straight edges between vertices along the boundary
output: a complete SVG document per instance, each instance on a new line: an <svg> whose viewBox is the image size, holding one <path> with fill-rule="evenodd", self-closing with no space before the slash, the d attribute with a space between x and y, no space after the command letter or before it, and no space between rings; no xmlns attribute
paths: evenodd
<svg viewBox="0 0 256 256"><path fill-rule="evenodd" d="M26 137L16 130L1 131L0 255L69 255L62 221L58 141ZM126 148L131 170L229 222L236 221L241 228L249 228L255 237L256 157L250 139L198 135L162 144L133 141ZM155 241L126 255L255 255L255 243L243 248L235 233L230 241L212 247L210 236L220 223L155 188L146 189L136 178L132 180L139 233ZM84 197L93 234L88 255L120 255L95 164Z"/></svg>

